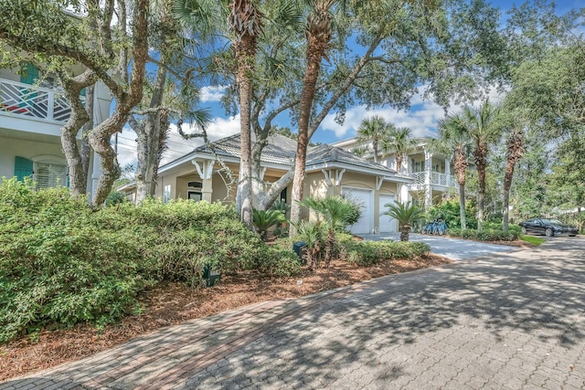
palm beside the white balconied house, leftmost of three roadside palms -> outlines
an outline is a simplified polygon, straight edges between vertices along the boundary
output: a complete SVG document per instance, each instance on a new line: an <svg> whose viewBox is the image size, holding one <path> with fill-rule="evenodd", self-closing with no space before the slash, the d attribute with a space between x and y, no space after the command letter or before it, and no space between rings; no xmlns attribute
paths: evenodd
<svg viewBox="0 0 585 390"><path fill-rule="evenodd" d="M461 114L451 114L439 121L439 138L431 140L431 150L452 155L453 168L459 184L459 215L461 228L467 228L465 220L465 181L467 178L467 157L471 148Z"/></svg>

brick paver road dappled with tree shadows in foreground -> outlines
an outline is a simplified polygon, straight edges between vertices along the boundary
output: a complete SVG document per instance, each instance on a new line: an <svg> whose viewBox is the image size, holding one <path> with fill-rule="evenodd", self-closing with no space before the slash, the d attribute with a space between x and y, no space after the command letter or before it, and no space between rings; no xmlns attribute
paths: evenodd
<svg viewBox="0 0 585 390"><path fill-rule="evenodd" d="M247 307L11 388L585 388L585 238Z"/></svg>

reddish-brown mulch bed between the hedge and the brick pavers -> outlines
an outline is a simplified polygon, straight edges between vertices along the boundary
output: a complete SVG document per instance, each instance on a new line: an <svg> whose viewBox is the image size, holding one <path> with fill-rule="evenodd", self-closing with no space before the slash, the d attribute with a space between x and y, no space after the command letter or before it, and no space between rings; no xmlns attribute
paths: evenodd
<svg viewBox="0 0 585 390"><path fill-rule="evenodd" d="M436 255L385 261L372 267L356 267L337 260L331 263L329 269L318 269L314 273L303 269L301 276L290 279L271 279L247 273L225 276L218 285L205 290L191 290L183 284L168 283L144 293L141 314L127 317L102 332L90 325L80 325L65 330L43 331L34 338L0 344L0 381L79 360L164 326L250 303L301 297L384 275L451 262Z"/></svg>

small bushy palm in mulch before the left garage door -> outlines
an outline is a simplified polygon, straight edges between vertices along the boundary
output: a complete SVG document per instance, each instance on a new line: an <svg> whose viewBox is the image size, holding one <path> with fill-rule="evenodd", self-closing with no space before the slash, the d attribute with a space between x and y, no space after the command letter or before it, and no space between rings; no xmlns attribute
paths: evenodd
<svg viewBox="0 0 585 390"><path fill-rule="evenodd" d="M324 261L325 267L329 267L335 246L335 230L347 226L349 218L354 215L356 206L351 200L342 196L327 196L324 199L308 198L301 203L324 216L327 227Z"/></svg>

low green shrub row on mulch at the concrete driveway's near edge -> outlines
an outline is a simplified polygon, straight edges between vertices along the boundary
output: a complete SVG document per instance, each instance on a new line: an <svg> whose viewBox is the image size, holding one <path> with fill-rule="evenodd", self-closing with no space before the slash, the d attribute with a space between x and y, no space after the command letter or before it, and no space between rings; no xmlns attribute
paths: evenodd
<svg viewBox="0 0 585 390"><path fill-rule="evenodd" d="M347 248L347 261L360 266L378 264L382 260L416 258L431 251L423 242L358 241Z"/></svg>

